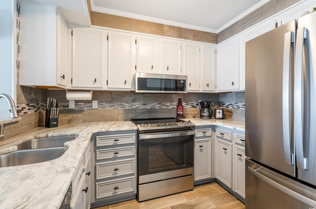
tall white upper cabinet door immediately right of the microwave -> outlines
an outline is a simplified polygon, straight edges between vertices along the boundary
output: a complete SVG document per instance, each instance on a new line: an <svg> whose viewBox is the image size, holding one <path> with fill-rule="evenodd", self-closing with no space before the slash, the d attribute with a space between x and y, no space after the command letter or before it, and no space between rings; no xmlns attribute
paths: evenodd
<svg viewBox="0 0 316 209"><path fill-rule="evenodd" d="M188 92L199 90L199 46L185 45L185 70L188 76Z"/></svg>

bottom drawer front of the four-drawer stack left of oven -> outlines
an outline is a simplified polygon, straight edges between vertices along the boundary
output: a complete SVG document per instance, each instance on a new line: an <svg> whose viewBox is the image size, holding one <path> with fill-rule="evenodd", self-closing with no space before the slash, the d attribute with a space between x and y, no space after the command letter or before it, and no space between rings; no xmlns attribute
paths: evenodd
<svg viewBox="0 0 316 209"><path fill-rule="evenodd" d="M134 176L132 178L123 178L120 180L102 181L95 183L96 199L110 197L113 195L133 192Z"/></svg>

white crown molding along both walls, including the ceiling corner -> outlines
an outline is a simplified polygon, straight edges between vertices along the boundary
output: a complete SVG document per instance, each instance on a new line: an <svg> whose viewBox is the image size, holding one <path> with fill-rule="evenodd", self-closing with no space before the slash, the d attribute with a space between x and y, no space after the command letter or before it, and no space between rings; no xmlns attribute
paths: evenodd
<svg viewBox="0 0 316 209"><path fill-rule="evenodd" d="M115 10L115 9L99 7L99 6L95 6L93 4L93 0L91 0L91 10L95 11L95 12L117 15L117 16L121 16L121 17L133 18L133 19L138 19L138 20L144 20L144 21L149 21L149 22L154 22L154 23L160 23L160 24L165 24L165 25L171 25L171 26L176 26L176 27L181 27L181 28L187 28L187 29L192 29L192 30L198 30L198 31L204 31L204 32L218 34L219 32L221 32L224 29L226 29L227 27L233 25L238 20L247 16L248 14L250 14L251 12L258 9L260 6L266 4L269 1L270 0L260 1L259 3L250 7L249 9L247 9L246 11L244 11L243 13L241 13L236 18L229 21L228 23L226 23L225 25L223 25L219 29L205 28L205 27L201 27L201 26L195 26L195 25L179 23L179 22L170 21L170 20L164 20L164 19L160 19L160 18L154 18L154 17L148 17L148 16L144 16L144 15L134 14L134 13L130 13L130 12L119 11L119 10Z"/></svg>

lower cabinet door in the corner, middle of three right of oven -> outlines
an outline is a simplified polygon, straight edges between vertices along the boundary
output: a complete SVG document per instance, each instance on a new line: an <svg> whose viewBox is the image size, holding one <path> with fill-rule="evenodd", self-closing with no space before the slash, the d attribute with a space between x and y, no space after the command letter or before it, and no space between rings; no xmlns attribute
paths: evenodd
<svg viewBox="0 0 316 209"><path fill-rule="evenodd" d="M232 144L216 140L216 178L232 188Z"/></svg>

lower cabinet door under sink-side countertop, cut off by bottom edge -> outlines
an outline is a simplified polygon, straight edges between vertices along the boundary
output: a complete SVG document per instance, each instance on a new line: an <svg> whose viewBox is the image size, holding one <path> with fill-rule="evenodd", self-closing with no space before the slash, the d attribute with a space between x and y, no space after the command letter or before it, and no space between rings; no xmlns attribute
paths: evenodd
<svg viewBox="0 0 316 209"><path fill-rule="evenodd" d="M81 174L79 184L76 189L74 196L72 197L70 208L71 209L84 209L85 207L85 173Z"/></svg>

